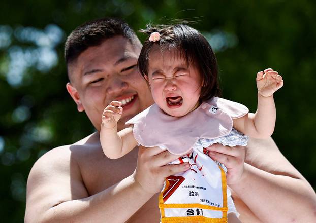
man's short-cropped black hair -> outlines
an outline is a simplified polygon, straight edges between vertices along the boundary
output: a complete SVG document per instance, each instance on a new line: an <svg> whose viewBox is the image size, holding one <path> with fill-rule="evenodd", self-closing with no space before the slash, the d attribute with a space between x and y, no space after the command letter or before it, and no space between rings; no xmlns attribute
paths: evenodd
<svg viewBox="0 0 316 223"><path fill-rule="evenodd" d="M140 42L133 29L122 19L101 18L86 22L73 30L65 44L65 59L67 65L92 46L102 44L106 39L121 35L128 39L131 44Z"/></svg>

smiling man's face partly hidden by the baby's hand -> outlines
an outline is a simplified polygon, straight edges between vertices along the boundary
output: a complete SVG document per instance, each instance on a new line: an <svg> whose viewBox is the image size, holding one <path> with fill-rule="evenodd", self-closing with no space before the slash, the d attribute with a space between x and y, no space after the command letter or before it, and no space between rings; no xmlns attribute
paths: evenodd
<svg viewBox="0 0 316 223"><path fill-rule="evenodd" d="M72 83L67 89L78 110L85 110L97 130L104 108L113 100L123 103L118 130L153 103L137 68L140 50L123 36L114 36L99 46L89 47L69 66Z"/></svg>

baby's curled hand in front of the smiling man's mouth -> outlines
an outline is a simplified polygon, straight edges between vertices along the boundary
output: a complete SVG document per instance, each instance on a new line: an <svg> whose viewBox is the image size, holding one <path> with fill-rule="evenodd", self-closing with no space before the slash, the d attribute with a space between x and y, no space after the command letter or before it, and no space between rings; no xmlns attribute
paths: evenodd
<svg viewBox="0 0 316 223"><path fill-rule="evenodd" d="M122 116L123 108L119 101L112 101L102 114L102 123L106 128L114 128Z"/></svg>

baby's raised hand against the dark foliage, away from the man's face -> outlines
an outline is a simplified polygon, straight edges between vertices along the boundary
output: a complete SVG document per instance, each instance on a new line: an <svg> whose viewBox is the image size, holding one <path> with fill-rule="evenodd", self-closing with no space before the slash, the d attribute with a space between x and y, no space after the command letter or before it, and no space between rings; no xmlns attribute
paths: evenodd
<svg viewBox="0 0 316 223"><path fill-rule="evenodd" d="M282 77L273 69L265 69L257 73L257 88L260 95L269 97L283 86Z"/></svg>

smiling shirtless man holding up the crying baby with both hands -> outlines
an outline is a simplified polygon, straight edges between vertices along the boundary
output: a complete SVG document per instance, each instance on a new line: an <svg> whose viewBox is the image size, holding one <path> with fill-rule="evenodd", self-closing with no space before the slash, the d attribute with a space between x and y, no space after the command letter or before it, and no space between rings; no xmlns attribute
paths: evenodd
<svg viewBox="0 0 316 223"><path fill-rule="evenodd" d="M133 30L116 19L92 21L70 34L67 90L98 131L112 100L126 103L118 129L153 103L136 66L140 49ZM315 192L271 138L250 139L246 148L214 145L209 155L228 167L242 222L316 222ZM157 192L164 178L187 168L166 165L175 159L159 148L139 147L110 160L99 132L54 148L30 171L25 222L159 222Z"/></svg>

